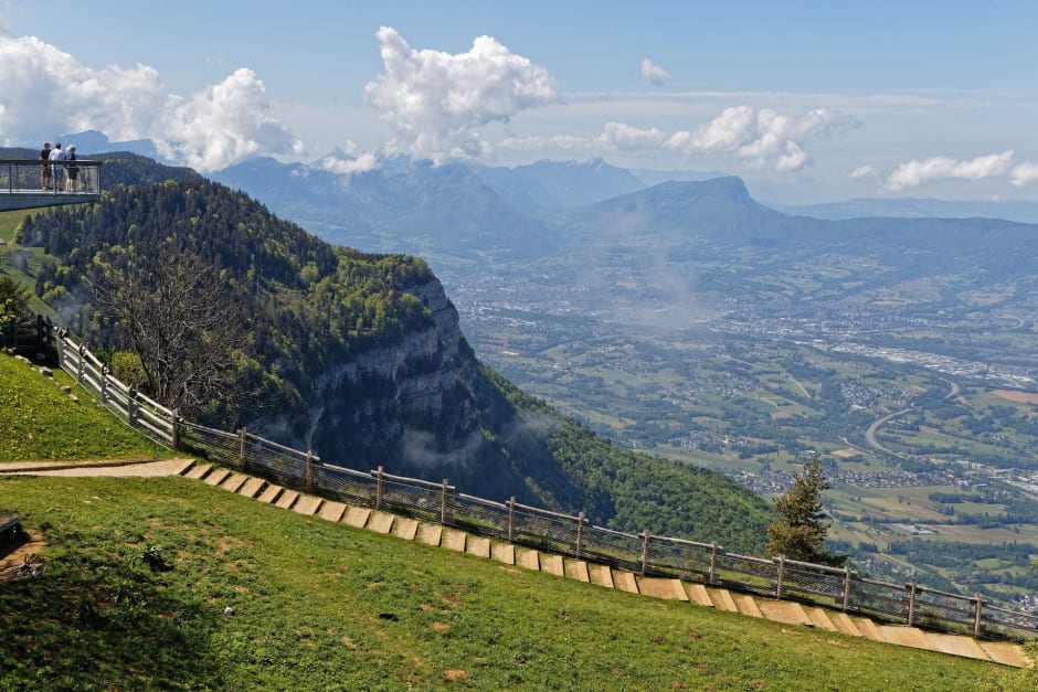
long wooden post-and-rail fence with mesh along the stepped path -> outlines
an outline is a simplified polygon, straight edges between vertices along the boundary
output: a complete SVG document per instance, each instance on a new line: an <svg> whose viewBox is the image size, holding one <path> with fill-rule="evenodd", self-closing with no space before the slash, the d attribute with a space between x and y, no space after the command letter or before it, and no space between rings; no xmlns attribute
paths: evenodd
<svg viewBox="0 0 1038 692"><path fill-rule="evenodd" d="M889 622L992 639L1038 638L1038 615L924 588L860 577L849 567L729 553L716 543L623 533L576 517L529 507L510 498L495 502L441 483L392 476L382 467L363 472L322 464L247 433L226 433L182 420L177 412L127 387L66 334L56 339L63 370L128 425L169 447L191 450L289 488L349 504L439 522L479 535L592 561L647 576L677 577L709 586L837 608Z"/></svg>

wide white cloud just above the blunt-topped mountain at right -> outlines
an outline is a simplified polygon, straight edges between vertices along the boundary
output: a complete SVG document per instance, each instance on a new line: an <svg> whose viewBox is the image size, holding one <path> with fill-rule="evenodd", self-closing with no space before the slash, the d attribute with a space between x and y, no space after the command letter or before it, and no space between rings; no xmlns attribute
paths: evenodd
<svg viewBox="0 0 1038 692"><path fill-rule="evenodd" d="M665 146L687 156L734 156L754 168L795 171L809 160L801 141L852 127L852 118L824 108L788 116L733 106L695 130L675 132Z"/></svg>

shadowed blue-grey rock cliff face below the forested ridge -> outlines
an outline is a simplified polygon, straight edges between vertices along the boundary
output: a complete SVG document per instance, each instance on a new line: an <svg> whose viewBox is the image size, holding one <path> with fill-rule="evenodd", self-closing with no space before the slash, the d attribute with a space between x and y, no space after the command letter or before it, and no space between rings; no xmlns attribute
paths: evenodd
<svg viewBox="0 0 1038 692"><path fill-rule="evenodd" d="M469 477L486 451L474 394L478 365L439 281L406 292L431 312L427 328L314 373L307 407L261 420L257 432L314 449L328 464Z"/></svg>

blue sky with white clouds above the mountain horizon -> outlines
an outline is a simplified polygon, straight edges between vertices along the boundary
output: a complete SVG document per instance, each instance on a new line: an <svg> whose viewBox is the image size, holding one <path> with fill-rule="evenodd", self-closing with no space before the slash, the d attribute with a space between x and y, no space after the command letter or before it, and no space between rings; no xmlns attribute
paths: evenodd
<svg viewBox="0 0 1038 692"><path fill-rule="evenodd" d="M1038 201L1038 2L0 0L0 145L213 172L396 155Z"/></svg>

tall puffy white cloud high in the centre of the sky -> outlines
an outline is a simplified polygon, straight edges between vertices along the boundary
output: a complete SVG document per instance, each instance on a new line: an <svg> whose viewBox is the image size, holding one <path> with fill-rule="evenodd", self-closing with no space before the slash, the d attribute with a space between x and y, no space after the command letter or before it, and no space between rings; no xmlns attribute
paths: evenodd
<svg viewBox="0 0 1038 692"><path fill-rule="evenodd" d="M554 78L490 36L467 53L414 50L392 28L378 32L384 72L364 86L395 136L390 150L442 161L489 151L480 129L559 100Z"/></svg>

